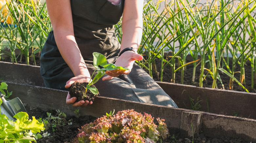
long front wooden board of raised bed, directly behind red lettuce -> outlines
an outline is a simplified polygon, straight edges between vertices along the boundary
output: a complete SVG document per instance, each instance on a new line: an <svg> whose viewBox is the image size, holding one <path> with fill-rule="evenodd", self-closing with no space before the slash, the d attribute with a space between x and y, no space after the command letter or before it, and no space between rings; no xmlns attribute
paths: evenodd
<svg viewBox="0 0 256 143"><path fill-rule="evenodd" d="M67 115L74 115L76 108L65 103L67 91L39 86L7 82L12 98L19 97L29 107L42 110L62 109ZM255 142L256 120L225 116L182 108L171 108L154 104L145 104L107 97L96 97L92 105L79 108L81 116L102 117L109 111L134 109L137 112L151 114L152 117L165 119L170 135L179 132L181 137L194 138L207 136L212 138L232 137L245 142ZM193 129L192 126L193 125Z"/></svg>

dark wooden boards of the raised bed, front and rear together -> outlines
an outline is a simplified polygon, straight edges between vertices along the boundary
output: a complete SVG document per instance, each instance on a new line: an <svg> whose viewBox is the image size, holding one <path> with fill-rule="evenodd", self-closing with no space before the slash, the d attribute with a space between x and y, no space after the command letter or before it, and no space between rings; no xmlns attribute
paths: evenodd
<svg viewBox="0 0 256 143"><path fill-rule="evenodd" d="M43 87L38 66L0 62L0 67L1 80L6 82L8 90L13 92L11 98L19 97L28 106L40 107L44 111L64 109L66 114L74 114L76 108L65 103L67 91ZM256 100L255 93L165 82L158 82L158 84L172 97L179 109L100 96L92 105L79 108L80 113L102 117L113 109L116 111L134 109L137 112L145 112L153 117L165 119L167 126L171 129L171 135L178 132L184 138L192 137L194 134L194 137L225 136L240 138L245 142L256 141L256 128L254 128L256 105L253 102ZM197 98L200 99L200 111L188 110L193 107L191 99L196 102ZM234 113L238 113L239 117L228 116Z"/></svg>

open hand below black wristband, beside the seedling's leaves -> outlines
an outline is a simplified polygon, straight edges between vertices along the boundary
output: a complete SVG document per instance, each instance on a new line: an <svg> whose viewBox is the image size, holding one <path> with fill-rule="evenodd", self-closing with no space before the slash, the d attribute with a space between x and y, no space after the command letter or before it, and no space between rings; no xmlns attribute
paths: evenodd
<svg viewBox="0 0 256 143"><path fill-rule="evenodd" d="M135 62L135 60L140 61L142 59L143 59L143 57L141 55L139 55L133 51L126 51L121 56L119 56L117 58L115 65L132 69L133 63ZM106 71L105 73L108 76L103 77L102 80L110 80L110 79L117 77L119 75L122 75L122 74L129 74L130 71L116 69L116 70L112 70L112 71Z"/></svg>

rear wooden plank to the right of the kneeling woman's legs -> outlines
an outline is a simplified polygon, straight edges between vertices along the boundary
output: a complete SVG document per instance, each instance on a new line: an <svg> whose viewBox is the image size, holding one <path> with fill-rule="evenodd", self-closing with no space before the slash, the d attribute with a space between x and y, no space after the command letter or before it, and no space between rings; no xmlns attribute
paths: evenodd
<svg viewBox="0 0 256 143"><path fill-rule="evenodd" d="M256 93L195 87L166 82L157 82L160 87L174 100L179 108L191 109L189 97L199 97L201 110L204 112L256 119Z"/></svg>

